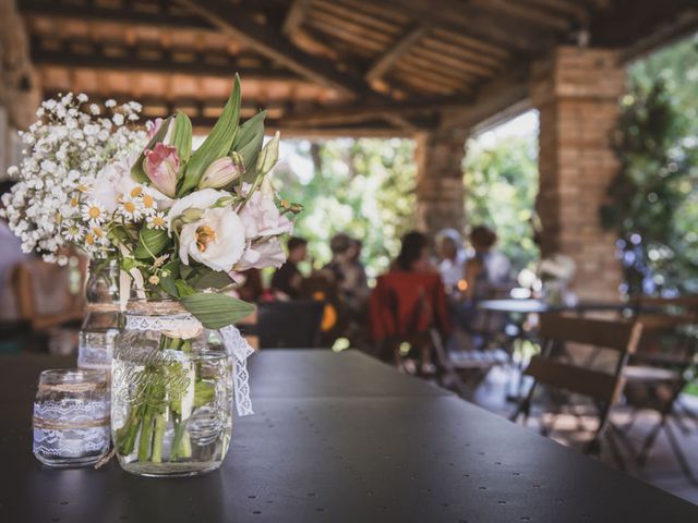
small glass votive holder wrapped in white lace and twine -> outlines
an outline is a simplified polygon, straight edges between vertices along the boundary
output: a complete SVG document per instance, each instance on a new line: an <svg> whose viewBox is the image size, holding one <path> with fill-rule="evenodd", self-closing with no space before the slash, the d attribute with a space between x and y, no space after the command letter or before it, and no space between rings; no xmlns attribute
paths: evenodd
<svg viewBox="0 0 698 523"><path fill-rule="evenodd" d="M49 466L96 463L109 452L109 411L104 372L44 370L34 401L34 455Z"/></svg>

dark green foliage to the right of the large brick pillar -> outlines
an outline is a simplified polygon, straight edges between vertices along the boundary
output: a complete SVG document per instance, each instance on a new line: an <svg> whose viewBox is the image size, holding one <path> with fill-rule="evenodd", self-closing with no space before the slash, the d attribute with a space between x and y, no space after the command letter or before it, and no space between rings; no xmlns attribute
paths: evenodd
<svg viewBox="0 0 698 523"><path fill-rule="evenodd" d="M698 290L697 54L686 40L630 69L614 135L621 169L601 208L630 294Z"/></svg>

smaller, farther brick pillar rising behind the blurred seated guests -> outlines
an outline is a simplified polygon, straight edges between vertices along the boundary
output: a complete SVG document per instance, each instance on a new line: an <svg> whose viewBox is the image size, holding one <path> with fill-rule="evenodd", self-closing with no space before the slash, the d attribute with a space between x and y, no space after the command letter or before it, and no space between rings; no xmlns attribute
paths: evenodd
<svg viewBox="0 0 698 523"><path fill-rule="evenodd" d="M468 133L462 129L417 135L417 227L433 235L464 228L462 158Z"/></svg>

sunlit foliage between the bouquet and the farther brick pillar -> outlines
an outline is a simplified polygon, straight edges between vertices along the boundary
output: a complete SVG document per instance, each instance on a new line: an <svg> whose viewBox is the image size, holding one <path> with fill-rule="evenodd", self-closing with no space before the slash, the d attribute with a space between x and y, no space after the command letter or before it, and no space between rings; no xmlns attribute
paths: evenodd
<svg viewBox="0 0 698 523"><path fill-rule="evenodd" d="M414 227L414 143L361 138L290 145L313 160L313 175L299 180L279 166L274 178L288 199L303 202L294 234L310 240L317 265L330 258L329 239L346 232L363 242L370 276L386 270L400 236Z"/></svg>

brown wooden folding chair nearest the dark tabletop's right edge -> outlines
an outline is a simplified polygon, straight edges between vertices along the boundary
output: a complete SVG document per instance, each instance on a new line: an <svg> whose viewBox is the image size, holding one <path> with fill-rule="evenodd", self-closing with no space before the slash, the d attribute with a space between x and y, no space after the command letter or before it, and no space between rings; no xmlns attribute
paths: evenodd
<svg viewBox="0 0 698 523"><path fill-rule="evenodd" d="M638 346L641 331L642 325L638 323L586 319L556 314L541 315L540 335L543 340L543 350L540 355L531 358L524 373L533 378L533 384L510 419L516 422L522 415L526 423L539 384L587 397L592 400L598 410L599 426L586 446L585 452L598 453L601 449L601 439L606 435L607 428L612 427L609 419L611 408L623 392L623 369ZM578 343L617 352L617 363L613 373L577 366L553 357L554 346L561 343ZM562 404L558 405L555 414L559 413L561 408ZM543 424L541 426L545 434L547 429ZM607 436L610 449L618 466L624 470L625 463L612 433L607 431Z"/></svg>

